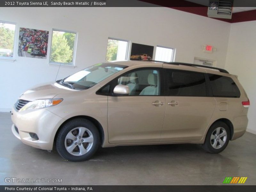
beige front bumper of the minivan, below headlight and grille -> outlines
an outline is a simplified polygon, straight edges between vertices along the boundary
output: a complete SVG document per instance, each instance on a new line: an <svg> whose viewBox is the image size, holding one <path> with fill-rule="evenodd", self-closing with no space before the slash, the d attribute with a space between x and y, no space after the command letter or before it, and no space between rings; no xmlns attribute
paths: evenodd
<svg viewBox="0 0 256 192"><path fill-rule="evenodd" d="M12 108L12 133L24 144L35 148L52 150L55 134L64 121L45 108L20 112ZM29 133L36 133L38 140Z"/></svg>

